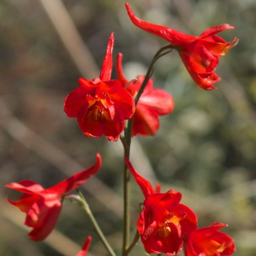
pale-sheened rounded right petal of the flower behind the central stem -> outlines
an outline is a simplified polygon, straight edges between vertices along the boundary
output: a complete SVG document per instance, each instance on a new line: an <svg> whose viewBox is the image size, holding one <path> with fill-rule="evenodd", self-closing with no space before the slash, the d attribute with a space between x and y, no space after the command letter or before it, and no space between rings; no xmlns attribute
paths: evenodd
<svg viewBox="0 0 256 256"><path fill-rule="evenodd" d="M158 115L169 114L174 108L172 96L161 89L146 90L140 96L138 104L153 109Z"/></svg>

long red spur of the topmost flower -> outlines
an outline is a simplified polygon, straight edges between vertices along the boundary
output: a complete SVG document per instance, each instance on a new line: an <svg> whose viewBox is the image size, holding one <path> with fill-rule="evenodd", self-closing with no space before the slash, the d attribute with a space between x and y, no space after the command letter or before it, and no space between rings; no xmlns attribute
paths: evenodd
<svg viewBox="0 0 256 256"><path fill-rule="evenodd" d="M130 5L128 3L126 3L126 9L130 17L130 20L133 22L135 26L145 30L146 32L154 34L158 37L162 37L176 46L182 46L183 44L193 42L197 38L194 36L181 33L169 27L155 25L139 19L132 12Z"/></svg>

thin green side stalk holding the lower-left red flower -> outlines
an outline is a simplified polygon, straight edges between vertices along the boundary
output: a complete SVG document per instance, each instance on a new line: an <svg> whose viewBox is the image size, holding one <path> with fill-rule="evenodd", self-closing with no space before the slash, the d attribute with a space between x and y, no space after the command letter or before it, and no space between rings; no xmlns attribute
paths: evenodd
<svg viewBox="0 0 256 256"><path fill-rule="evenodd" d="M101 228L99 227L96 219L94 218L94 216L91 212L91 209L90 209L89 205L87 204L83 194L79 190L77 190L77 193L79 194L79 196L77 196L77 195L67 195L67 196L65 196L65 199L68 199L68 198L69 199L75 199L76 202L79 205L81 205L81 207L86 211L87 215L89 216L97 235L101 239L102 244L105 246L105 248L107 249L107 251L109 252L109 254L111 256L116 256L115 252L113 251L110 244L108 243L106 237L102 233Z"/></svg>

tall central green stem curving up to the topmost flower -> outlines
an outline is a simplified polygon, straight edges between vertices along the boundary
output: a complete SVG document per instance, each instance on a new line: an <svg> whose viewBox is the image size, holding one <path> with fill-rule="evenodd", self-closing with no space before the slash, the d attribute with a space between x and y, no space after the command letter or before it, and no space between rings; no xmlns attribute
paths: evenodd
<svg viewBox="0 0 256 256"><path fill-rule="evenodd" d="M150 62L150 66L148 68L148 71L145 75L144 81L140 86L140 90L138 91L138 94L135 97L135 105L137 105L139 98L141 94L143 93L145 86L147 82L149 81L152 72L153 72L153 66L155 62L162 57L163 55L167 54L170 51L163 52L167 49L172 49L172 44L167 44L161 47L153 57L152 61ZM125 128L125 135L120 136L120 139L124 145L124 151L125 151L125 157L128 159L130 158L130 144L131 144L131 131L132 131L132 123L133 123L133 117L128 120L127 126ZM122 245L122 256L128 255L130 250L133 248L133 246L136 243L132 243L129 246L130 243L130 172L126 165L124 165L124 222L123 222L123 245Z"/></svg>

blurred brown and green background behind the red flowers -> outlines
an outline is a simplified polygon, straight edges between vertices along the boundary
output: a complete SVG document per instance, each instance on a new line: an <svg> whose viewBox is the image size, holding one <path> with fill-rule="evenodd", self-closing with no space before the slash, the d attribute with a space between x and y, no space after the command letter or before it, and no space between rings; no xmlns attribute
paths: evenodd
<svg viewBox="0 0 256 256"><path fill-rule="evenodd" d="M155 65L154 85L170 92L174 111L160 117L154 137L132 140L135 168L162 191L181 191L199 227L224 222L236 243L233 255L256 255L256 1L130 0L149 22L199 35L229 23L222 32L231 49L216 69L218 90L203 91L173 51ZM122 230L122 145L87 138L63 111L77 79L99 76L110 33L114 58L123 53L129 79L145 74L166 42L135 27L125 1L2 0L0 2L0 255L75 255L87 235L90 255L107 255L85 212L68 201L54 232L41 243L28 240L25 214L6 201L15 191L3 185L34 180L45 188L95 162L101 171L83 191L110 244L118 253ZM116 77L115 70L112 77ZM132 180L132 234L143 195ZM131 255L145 255L141 243Z"/></svg>

